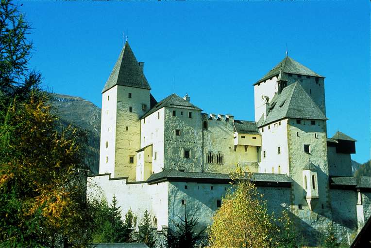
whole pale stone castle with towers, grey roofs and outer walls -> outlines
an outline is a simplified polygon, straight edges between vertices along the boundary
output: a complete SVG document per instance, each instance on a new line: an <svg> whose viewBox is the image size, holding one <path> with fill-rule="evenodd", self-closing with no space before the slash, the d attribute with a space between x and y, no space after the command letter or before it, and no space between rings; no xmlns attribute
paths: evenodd
<svg viewBox="0 0 371 248"><path fill-rule="evenodd" d="M123 213L148 210L161 231L187 206L211 224L239 165L312 243L327 223L349 234L371 216L371 177L352 175L356 140L328 138L323 76L286 56L253 84L255 120L243 121L188 95L157 102L143 66L126 42L102 91L100 174L88 178Z"/></svg>

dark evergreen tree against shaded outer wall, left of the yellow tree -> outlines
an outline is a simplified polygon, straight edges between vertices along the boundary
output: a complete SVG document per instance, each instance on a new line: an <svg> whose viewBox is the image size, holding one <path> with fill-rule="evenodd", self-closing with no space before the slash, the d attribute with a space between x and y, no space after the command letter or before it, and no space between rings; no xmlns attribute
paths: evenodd
<svg viewBox="0 0 371 248"><path fill-rule="evenodd" d="M194 248L202 245L205 229L196 232L198 218L195 213L190 217L184 208L184 217L176 216L179 221L171 220L173 228L164 233L167 248ZM201 244L200 244L201 243Z"/></svg>

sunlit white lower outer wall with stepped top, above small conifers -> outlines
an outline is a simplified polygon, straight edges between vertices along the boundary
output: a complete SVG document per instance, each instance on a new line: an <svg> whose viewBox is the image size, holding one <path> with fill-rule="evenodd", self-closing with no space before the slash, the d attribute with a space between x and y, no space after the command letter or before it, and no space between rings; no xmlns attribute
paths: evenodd
<svg viewBox="0 0 371 248"><path fill-rule="evenodd" d="M168 225L168 183L155 185L146 183L129 183L126 179L109 180L109 175L88 177L87 197L105 197L108 204L112 203L115 195L121 216L124 219L129 209L133 211L138 222L147 210L153 218L157 219L157 229ZM153 224L153 222L152 222Z"/></svg>

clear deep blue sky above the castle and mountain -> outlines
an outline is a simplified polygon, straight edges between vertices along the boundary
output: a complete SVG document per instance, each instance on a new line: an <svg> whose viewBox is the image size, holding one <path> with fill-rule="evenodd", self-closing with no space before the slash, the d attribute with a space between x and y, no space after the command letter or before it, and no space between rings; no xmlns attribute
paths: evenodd
<svg viewBox="0 0 371 248"><path fill-rule="evenodd" d="M101 107L123 32L159 101L188 93L207 113L253 120L252 84L289 56L326 77L328 135L370 159L370 3L359 1L17 1L44 87Z"/></svg>

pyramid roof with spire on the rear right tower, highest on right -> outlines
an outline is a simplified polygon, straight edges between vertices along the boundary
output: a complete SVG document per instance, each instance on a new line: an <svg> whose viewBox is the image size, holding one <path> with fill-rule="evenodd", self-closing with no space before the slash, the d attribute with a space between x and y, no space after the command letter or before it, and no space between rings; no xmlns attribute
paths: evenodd
<svg viewBox="0 0 371 248"><path fill-rule="evenodd" d="M260 78L256 83L253 85L260 83L264 80L267 80L268 78L275 77L280 74L280 70L284 73L291 73L291 74L300 74L300 75L305 75L305 76L313 76L313 77L320 77L319 74L315 73L308 67L304 66L303 64L294 61L290 57L286 57L283 59L281 62L279 62L276 66L273 67L263 78ZM282 75L283 76L283 75Z"/></svg>

